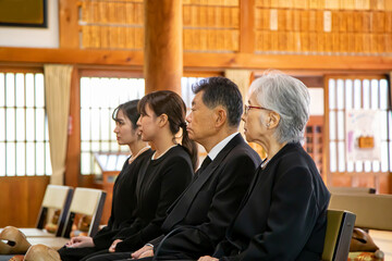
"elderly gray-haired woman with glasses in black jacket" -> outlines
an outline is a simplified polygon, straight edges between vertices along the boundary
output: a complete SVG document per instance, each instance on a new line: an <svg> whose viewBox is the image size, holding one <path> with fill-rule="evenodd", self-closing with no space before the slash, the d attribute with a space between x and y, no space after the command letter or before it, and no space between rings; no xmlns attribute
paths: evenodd
<svg viewBox="0 0 392 261"><path fill-rule="evenodd" d="M257 171L226 238L206 260L320 260L330 194L301 146L309 94L298 79L270 72L249 90L243 121L267 159Z"/></svg>

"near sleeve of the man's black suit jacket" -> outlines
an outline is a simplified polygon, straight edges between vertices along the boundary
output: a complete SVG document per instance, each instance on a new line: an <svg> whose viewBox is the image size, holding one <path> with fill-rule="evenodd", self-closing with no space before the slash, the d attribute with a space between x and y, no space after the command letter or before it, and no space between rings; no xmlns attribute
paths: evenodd
<svg viewBox="0 0 392 261"><path fill-rule="evenodd" d="M219 175L219 183L209 206L207 222L168 237L162 244L162 254L186 252L191 258L209 252L212 254L217 244L224 237L226 227L233 219L256 172L257 164L247 154L242 154L225 163ZM208 191L203 191L208 192ZM199 195L199 197L203 197ZM155 241L157 244L157 241Z"/></svg>

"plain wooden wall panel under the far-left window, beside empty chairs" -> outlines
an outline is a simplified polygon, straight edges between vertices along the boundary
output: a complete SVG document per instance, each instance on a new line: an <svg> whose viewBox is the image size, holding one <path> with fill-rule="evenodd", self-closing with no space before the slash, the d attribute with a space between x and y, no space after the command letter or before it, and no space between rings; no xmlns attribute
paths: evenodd
<svg viewBox="0 0 392 261"><path fill-rule="evenodd" d="M0 177L0 227L34 227L48 176Z"/></svg>

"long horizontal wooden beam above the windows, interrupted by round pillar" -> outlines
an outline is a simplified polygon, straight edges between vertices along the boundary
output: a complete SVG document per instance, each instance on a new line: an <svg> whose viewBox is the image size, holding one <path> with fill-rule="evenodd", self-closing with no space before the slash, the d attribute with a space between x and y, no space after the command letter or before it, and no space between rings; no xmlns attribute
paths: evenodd
<svg viewBox="0 0 392 261"><path fill-rule="evenodd" d="M79 65L118 65L142 67L142 51L0 48L0 64L10 63L66 63ZM220 71L249 70L307 70L307 71L392 71L392 55L294 55L254 53L184 53L184 69Z"/></svg>

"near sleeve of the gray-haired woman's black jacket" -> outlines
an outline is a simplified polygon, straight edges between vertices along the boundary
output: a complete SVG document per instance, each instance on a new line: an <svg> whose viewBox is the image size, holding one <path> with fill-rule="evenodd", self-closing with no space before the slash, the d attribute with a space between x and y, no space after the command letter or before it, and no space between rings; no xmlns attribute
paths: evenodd
<svg viewBox="0 0 392 261"><path fill-rule="evenodd" d="M266 232L255 235L240 254L220 260L294 260L320 213L311 179L306 167L294 167L279 176L272 190Z"/></svg>

